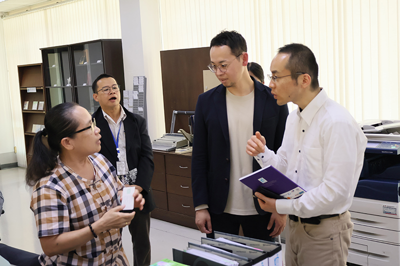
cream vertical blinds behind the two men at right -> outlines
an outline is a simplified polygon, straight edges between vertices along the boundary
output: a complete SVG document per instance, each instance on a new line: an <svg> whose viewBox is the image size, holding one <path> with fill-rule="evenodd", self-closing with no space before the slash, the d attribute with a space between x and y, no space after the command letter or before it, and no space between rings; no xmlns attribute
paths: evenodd
<svg viewBox="0 0 400 266"><path fill-rule="evenodd" d="M209 46L220 30L237 30L250 61L268 73L280 46L300 42L315 54L320 86L357 121L399 119L396 0L160 0L159 6L164 50Z"/></svg>

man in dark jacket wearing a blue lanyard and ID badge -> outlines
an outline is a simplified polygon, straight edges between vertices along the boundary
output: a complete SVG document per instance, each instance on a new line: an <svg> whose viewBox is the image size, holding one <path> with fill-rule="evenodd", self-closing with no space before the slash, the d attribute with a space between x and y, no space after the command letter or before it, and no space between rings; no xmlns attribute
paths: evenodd
<svg viewBox="0 0 400 266"><path fill-rule="evenodd" d="M155 208L150 187L154 172L153 153L146 121L119 104L119 85L107 74L93 82L93 98L100 107L93 113L101 130L101 150L125 186L134 186L143 195L142 211L135 209L129 225L134 266L150 265L150 212Z"/></svg>

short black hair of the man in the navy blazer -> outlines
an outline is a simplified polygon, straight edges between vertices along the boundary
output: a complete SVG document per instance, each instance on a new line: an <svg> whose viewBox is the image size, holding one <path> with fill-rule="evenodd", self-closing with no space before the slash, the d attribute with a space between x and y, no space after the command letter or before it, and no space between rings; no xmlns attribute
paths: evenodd
<svg viewBox="0 0 400 266"><path fill-rule="evenodd" d="M242 52L247 52L246 40L235 30L222 30L212 38L209 48L212 46L229 46L234 56L239 56Z"/></svg>

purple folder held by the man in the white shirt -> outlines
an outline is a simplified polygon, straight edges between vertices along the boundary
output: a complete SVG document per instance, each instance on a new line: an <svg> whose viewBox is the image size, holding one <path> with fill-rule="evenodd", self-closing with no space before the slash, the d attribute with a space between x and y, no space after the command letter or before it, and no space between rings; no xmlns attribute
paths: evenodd
<svg viewBox="0 0 400 266"><path fill-rule="evenodd" d="M305 190L300 188L273 166L267 166L249 175L243 176L239 181L254 192L259 191L259 187L262 187L285 199L295 199L305 193Z"/></svg>

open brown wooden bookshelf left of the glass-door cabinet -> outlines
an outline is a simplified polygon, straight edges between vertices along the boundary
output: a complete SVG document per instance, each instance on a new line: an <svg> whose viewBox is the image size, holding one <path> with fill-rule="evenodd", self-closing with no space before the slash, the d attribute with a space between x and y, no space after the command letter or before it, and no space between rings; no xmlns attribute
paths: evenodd
<svg viewBox="0 0 400 266"><path fill-rule="evenodd" d="M35 135L35 132L32 132L32 127L33 124L44 125L44 115L47 110L43 82L43 65L41 63L18 65L18 77L26 162L29 164L32 157L33 138ZM28 102L27 106L24 106L25 101ZM36 109L32 108L33 102L37 102ZM39 102L43 102L43 110L37 110Z"/></svg>

